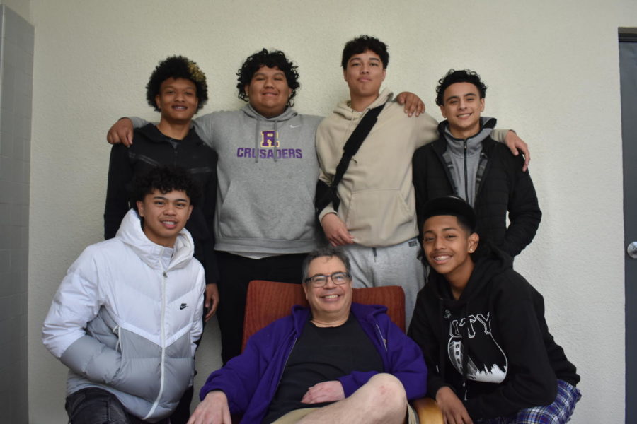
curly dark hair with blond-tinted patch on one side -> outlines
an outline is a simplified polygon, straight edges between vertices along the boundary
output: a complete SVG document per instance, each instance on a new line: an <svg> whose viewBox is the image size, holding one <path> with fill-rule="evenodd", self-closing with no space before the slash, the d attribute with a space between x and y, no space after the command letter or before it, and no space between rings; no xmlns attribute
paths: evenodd
<svg viewBox="0 0 637 424"><path fill-rule="evenodd" d="M199 66L183 56L171 56L159 62L146 85L146 100L154 110L159 112L159 107L155 102L155 98L159 94L161 83L168 78L185 78L195 83L197 88L197 111L199 111L208 101L208 85L206 83L206 74L202 72Z"/></svg>

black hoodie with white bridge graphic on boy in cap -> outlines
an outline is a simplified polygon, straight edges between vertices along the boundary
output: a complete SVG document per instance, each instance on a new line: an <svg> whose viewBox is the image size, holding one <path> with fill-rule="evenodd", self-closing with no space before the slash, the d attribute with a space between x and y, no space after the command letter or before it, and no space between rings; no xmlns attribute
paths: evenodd
<svg viewBox="0 0 637 424"><path fill-rule="evenodd" d="M451 387L473 419L551 404L556 379L580 380L549 333L542 295L513 271L510 256L481 250L458 300L432 270L409 328L430 371L430 396Z"/></svg>

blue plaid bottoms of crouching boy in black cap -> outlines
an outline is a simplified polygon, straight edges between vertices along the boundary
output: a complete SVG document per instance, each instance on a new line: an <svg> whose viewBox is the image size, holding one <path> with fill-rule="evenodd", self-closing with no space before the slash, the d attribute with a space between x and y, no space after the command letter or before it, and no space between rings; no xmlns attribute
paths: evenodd
<svg viewBox="0 0 637 424"><path fill-rule="evenodd" d="M552 404L524 408L507 417L476 420L477 424L563 424L570 420L582 394L577 387L558 379L558 394Z"/></svg>

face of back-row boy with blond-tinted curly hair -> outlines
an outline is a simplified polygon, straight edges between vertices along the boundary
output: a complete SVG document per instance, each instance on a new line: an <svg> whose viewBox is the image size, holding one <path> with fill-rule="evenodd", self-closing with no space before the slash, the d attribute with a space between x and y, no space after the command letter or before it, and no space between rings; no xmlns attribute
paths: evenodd
<svg viewBox="0 0 637 424"><path fill-rule="evenodd" d="M172 124L185 124L197 112L197 87L185 78L168 78L161 83L159 94L155 96L161 120Z"/></svg>

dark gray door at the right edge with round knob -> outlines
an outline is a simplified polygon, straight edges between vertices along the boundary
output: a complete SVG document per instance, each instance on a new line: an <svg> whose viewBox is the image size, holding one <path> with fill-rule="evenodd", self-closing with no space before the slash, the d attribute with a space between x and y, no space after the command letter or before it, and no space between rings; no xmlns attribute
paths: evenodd
<svg viewBox="0 0 637 424"><path fill-rule="evenodd" d="M621 138L624 146L624 270L626 286L626 423L637 417L637 29L619 34ZM635 244L633 245L633 242ZM635 251L630 254L632 247ZM634 256L634 257L632 257Z"/></svg>

